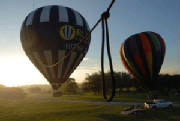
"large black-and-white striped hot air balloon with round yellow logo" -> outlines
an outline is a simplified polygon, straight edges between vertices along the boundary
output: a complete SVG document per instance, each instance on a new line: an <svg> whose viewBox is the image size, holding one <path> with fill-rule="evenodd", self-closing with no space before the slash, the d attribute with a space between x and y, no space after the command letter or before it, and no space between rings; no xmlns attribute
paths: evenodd
<svg viewBox="0 0 180 121"><path fill-rule="evenodd" d="M88 32L89 26L79 12L49 5L29 13L22 24L20 36L26 55L57 90L86 55L90 36L73 51L72 48Z"/></svg>

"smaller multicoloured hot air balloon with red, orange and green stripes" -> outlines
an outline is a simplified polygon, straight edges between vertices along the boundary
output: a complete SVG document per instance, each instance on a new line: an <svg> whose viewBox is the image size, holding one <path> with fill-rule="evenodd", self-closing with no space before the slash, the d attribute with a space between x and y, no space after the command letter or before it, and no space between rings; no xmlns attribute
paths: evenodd
<svg viewBox="0 0 180 121"><path fill-rule="evenodd" d="M142 32L127 38L120 48L123 65L146 87L157 89L156 79L164 61L165 43L155 32Z"/></svg>

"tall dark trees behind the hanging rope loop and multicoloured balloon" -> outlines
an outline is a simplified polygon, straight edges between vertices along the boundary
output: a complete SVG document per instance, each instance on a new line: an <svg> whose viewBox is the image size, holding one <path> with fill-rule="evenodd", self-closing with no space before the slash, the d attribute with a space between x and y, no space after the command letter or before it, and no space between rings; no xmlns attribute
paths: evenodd
<svg viewBox="0 0 180 121"><path fill-rule="evenodd" d="M132 78L128 73L115 72L114 76L116 79L116 89L121 90L123 88L135 87L136 90L140 92L149 90L142 84L141 81ZM168 93L172 89L180 91L179 81L180 75L161 74L156 80L159 87L158 91L161 91L162 93ZM112 88L110 72L105 73L105 83L106 89ZM102 91L101 72L93 73L92 75L86 77L85 82L82 84L82 89L84 91L100 93Z"/></svg>

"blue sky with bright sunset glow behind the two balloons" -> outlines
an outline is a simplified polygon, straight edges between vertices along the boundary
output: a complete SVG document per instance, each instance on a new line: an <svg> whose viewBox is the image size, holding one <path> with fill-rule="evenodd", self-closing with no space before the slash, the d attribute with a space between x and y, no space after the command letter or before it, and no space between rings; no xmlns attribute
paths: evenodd
<svg viewBox="0 0 180 121"><path fill-rule="evenodd" d="M20 30L25 17L46 5L62 5L78 11L94 26L111 0L1 0L0 4L0 84L20 86L49 84L25 55ZM116 0L108 19L110 47L114 70L127 72L120 61L119 48L129 36L153 31L166 43L161 74L180 74L180 1L179 0ZM91 33L86 57L71 78L83 82L100 71L101 24ZM106 53L105 53L106 55ZM109 70L105 57L105 70Z"/></svg>

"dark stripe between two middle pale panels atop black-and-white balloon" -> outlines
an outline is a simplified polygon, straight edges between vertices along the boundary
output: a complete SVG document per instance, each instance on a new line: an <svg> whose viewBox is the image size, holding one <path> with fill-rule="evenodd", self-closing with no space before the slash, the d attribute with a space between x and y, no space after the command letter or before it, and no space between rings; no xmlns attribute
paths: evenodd
<svg viewBox="0 0 180 121"><path fill-rule="evenodd" d="M57 24L59 20L58 6L53 6L50 10L50 23Z"/></svg>

